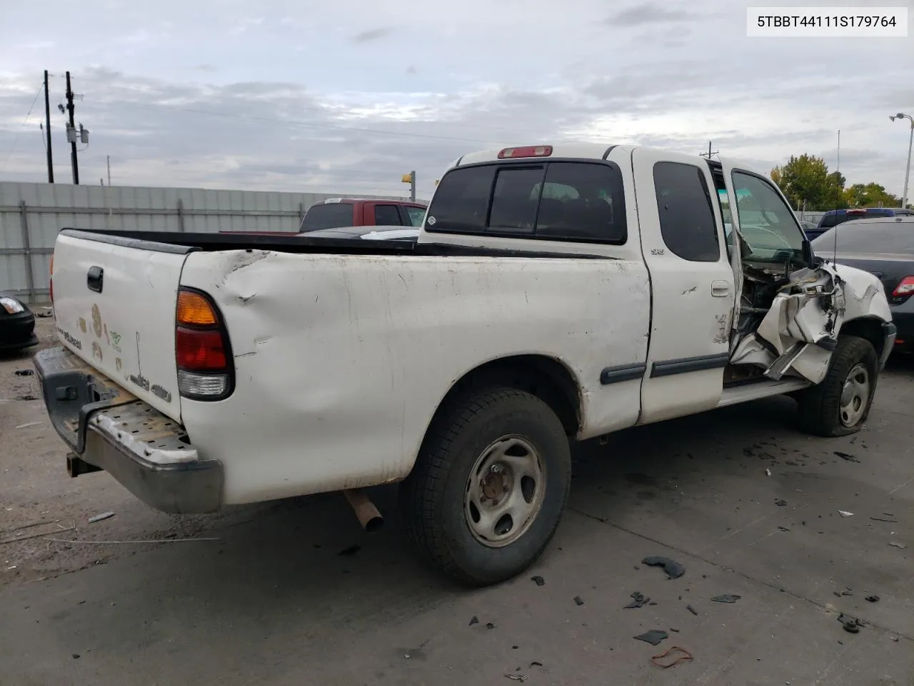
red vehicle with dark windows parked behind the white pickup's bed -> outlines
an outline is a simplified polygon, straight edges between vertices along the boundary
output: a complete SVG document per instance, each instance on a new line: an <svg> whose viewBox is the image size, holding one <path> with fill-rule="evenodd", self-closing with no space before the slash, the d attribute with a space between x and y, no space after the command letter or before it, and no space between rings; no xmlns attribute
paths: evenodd
<svg viewBox="0 0 914 686"><path fill-rule="evenodd" d="M409 200L330 198L304 213L300 232L347 226L420 226L426 206Z"/></svg>

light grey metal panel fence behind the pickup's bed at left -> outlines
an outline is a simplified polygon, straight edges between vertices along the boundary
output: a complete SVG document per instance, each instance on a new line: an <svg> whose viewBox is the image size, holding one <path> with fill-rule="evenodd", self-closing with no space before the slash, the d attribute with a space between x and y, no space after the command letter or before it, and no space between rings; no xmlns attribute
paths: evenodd
<svg viewBox="0 0 914 686"><path fill-rule="evenodd" d="M48 300L60 229L293 232L315 202L347 197L354 196L0 181L0 291Z"/></svg>

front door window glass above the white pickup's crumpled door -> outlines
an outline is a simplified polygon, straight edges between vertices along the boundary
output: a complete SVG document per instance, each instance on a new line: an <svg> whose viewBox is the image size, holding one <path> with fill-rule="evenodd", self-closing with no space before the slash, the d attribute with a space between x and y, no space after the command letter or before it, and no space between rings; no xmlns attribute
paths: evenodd
<svg viewBox="0 0 914 686"><path fill-rule="evenodd" d="M796 216L771 184L754 174L735 171L739 233L749 244L748 262L802 260L803 232Z"/></svg>

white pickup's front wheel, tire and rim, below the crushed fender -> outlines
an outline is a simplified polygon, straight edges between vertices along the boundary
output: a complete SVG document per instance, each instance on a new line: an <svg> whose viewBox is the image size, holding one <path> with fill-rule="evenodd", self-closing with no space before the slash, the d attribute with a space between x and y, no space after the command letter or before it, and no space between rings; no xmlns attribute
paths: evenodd
<svg viewBox="0 0 914 686"><path fill-rule="evenodd" d="M824 380L797 399L802 428L828 437L859 431L873 404L877 374L873 344L865 338L839 336Z"/></svg>

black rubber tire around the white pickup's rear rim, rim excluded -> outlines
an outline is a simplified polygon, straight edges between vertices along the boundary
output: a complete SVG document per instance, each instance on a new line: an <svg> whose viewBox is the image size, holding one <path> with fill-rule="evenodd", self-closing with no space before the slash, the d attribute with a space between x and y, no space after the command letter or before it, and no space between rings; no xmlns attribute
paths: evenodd
<svg viewBox="0 0 914 686"><path fill-rule="evenodd" d="M471 531L464 497L477 460L505 436L521 437L535 448L545 467L545 490L526 531L493 548ZM569 438L556 413L525 391L488 388L441 408L416 465L400 485L400 507L409 540L426 562L463 584L497 584L523 572L545 550L558 529L570 485Z"/></svg>

